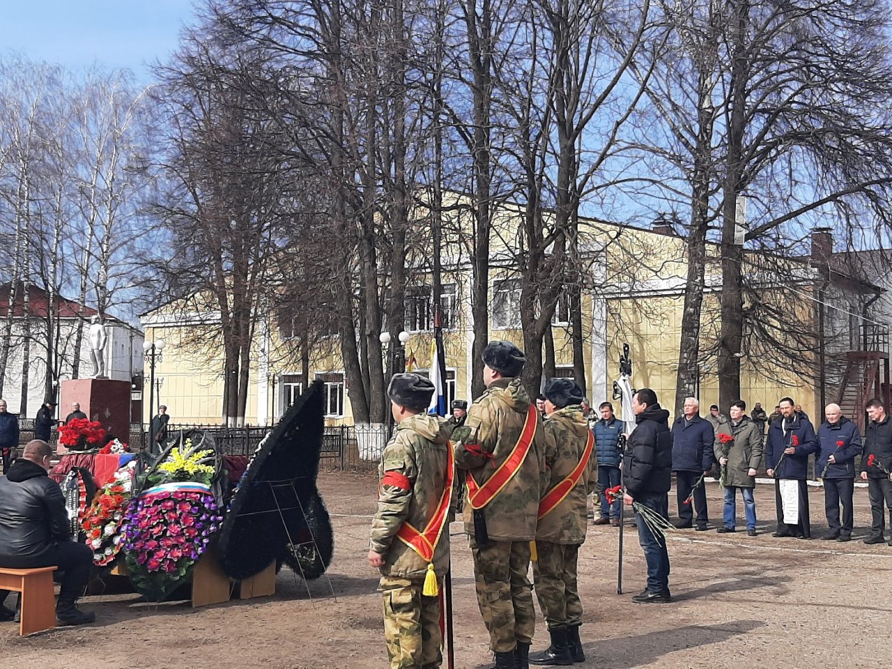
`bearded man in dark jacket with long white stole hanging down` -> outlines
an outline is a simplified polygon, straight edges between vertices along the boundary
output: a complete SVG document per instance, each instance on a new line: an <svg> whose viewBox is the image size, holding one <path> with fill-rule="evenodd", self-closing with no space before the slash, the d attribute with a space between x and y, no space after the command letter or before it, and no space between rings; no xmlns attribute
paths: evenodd
<svg viewBox="0 0 892 669"><path fill-rule="evenodd" d="M814 427L797 412L791 398L779 402L780 420L768 429L765 442L765 467L774 476L774 504L777 508L778 529L775 537L812 538L808 516L808 456L818 450ZM786 509L786 513L785 513Z"/></svg>

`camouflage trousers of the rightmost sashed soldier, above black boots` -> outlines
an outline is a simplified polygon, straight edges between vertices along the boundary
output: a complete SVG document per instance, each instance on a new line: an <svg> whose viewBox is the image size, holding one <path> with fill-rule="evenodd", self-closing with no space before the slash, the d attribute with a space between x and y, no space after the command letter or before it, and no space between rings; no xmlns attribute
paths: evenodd
<svg viewBox="0 0 892 669"><path fill-rule="evenodd" d="M578 544L536 541L538 562L533 562L536 599L549 630L560 625L582 624L582 599L576 583Z"/></svg>

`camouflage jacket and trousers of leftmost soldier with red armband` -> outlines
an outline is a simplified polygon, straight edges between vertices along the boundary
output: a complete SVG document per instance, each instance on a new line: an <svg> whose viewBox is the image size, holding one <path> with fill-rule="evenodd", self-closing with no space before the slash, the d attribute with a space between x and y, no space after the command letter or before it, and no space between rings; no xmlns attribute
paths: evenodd
<svg viewBox="0 0 892 669"><path fill-rule="evenodd" d="M370 548L384 556L381 583L384 595L384 636L392 669L439 667L440 601L421 594L427 563L396 537L403 521L424 530L442 495L449 457L449 430L436 417L418 414L403 420L384 452L378 474L395 472L409 479L410 488L382 485L372 521ZM449 527L443 527L434 550L439 578L449 568Z"/></svg>

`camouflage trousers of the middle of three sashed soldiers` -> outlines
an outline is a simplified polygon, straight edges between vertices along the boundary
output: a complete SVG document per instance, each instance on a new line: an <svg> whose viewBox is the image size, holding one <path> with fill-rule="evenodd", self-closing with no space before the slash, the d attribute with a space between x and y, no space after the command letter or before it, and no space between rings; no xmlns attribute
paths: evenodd
<svg viewBox="0 0 892 669"><path fill-rule="evenodd" d="M478 547L471 540L477 604L490 632L494 653L513 650L517 641L533 642L536 610L530 584L530 542L493 541Z"/></svg>

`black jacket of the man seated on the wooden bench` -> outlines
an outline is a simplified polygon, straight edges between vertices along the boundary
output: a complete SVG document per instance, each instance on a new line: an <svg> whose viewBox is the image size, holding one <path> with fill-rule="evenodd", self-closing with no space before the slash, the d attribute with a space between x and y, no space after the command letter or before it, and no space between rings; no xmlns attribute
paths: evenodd
<svg viewBox="0 0 892 669"><path fill-rule="evenodd" d="M19 458L0 476L0 556L31 558L68 539L62 488L43 467Z"/></svg>

